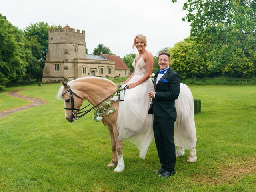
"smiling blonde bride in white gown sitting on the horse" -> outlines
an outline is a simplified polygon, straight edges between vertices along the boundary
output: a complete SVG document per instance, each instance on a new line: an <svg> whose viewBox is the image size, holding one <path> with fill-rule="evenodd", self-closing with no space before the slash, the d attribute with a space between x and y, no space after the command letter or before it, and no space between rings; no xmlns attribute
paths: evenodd
<svg viewBox="0 0 256 192"><path fill-rule="evenodd" d="M134 38L133 48L136 47L138 54L132 66L133 73L122 82L128 85L124 101L119 102L117 127L119 131L118 140L129 140L134 143L140 151L140 158L145 158L153 138L152 114L148 114L150 106L149 91L154 91L154 84L150 79L153 70L153 55L145 48L147 46L146 36L138 34Z"/></svg>

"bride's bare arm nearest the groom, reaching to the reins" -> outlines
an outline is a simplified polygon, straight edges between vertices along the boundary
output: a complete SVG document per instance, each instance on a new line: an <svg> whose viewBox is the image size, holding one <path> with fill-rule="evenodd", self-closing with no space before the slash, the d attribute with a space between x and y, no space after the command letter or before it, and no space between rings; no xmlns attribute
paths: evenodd
<svg viewBox="0 0 256 192"><path fill-rule="evenodd" d="M143 82L145 82L148 78L150 78L150 75L152 74L152 71L153 71L153 63L154 63L154 58L152 53L148 52L145 54L145 62L146 62L146 74L142 78L140 78L140 80L138 80L137 82L129 84L128 86L130 88L134 88L139 84L142 84Z"/></svg>

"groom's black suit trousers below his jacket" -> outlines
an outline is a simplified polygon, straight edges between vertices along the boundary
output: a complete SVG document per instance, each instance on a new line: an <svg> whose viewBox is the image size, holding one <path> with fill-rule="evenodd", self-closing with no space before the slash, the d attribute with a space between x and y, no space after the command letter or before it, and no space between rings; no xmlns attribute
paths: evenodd
<svg viewBox="0 0 256 192"><path fill-rule="evenodd" d="M174 144L174 122L176 119L168 119L154 116L153 130L156 149L164 170L172 172L176 163Z"/></svg>

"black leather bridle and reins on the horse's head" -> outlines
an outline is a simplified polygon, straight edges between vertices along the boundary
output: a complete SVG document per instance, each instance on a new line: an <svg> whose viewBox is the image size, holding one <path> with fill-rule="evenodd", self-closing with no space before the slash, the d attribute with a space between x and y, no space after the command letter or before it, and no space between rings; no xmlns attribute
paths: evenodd
<svg viewBox="0 0 256 192"><path fill-rule="evenodd" d="M128 85L126 85L124 88L122 88L122 89L120 89L120 90L117 90L116 92L112 93L110 96L108 96L107 98L105 98L104 100L102 100L100 103L96 104L95 106L93 106L92 108L90 108L90 109L88 109L88 110L86 110L86 111L82 111L82 110L83 110L84 108L90 106L91 104L88 104L87 106L85 106L85 107L82 108L82 109L76 109L76 108L74 108L74 96L76 96L76 97L82 99L83 101L84 101L84 99L83 99L82 97L78 96L77 94L75 94L75 93L72 91L72 89L70 88L69 85L68 85L68 90L64 91L61 96L62 96L62 98L63 98L64 94L70 92L71 108L64 107L64 109L66 109L66 110L72 110L72 114L73 114L74 118L79 119L79 118L81 118L82 116L84 116L85 114L87 114L88 112L90 112L91 110L93 110L94 108L98 107L98 106L99 106L100 104L102 104L104 101L106 101L107 99L109 99L111 96L113 96L113 94L118 93L118 95L119 95L120 91L126 90L126 89L129 89ZM73 96L73 95L74 95L74 96ZM118 98L118 100L120 100L120 98ZM123 101L123 100L120 100L120 101ZM79 111L79 112L73 112L74 110L77 110L77 111ZM80 112L80 111L82 111L82 112ZM81 114L81 113L82 113L82 114ZM78 116L78 114L81 114L81 115Z"/></svg>

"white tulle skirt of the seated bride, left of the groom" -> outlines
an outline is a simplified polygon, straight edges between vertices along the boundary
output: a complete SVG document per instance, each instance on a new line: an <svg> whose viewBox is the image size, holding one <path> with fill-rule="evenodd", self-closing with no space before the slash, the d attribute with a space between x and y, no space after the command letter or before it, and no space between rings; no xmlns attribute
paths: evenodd
<svg viewBox="0 0 256 192"><path fill-rule="evenodd" d="M134 75L127 84L137 82L142 76ZM125 86L125 85L124 85ZM119 102L117 128L118 140L134 143L140 151L140 158L145 159L153 138L153 118L148 114L150 106L149 90L154 90L151 79L125 91L124 101Z"/></svg>

